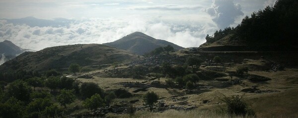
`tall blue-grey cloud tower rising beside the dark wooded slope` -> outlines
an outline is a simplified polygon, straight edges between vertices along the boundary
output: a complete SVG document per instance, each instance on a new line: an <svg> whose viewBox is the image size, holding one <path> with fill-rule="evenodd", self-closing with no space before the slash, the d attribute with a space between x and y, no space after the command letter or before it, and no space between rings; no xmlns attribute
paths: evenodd
<svg viewBox="0 0 298 118"><path fill-rule="evenodd" d="M212 6L206 9L213 17L218 28L224 29L235 22L235 19L244 15L240 4L234 4L233 0L214 0Z"/></svg>

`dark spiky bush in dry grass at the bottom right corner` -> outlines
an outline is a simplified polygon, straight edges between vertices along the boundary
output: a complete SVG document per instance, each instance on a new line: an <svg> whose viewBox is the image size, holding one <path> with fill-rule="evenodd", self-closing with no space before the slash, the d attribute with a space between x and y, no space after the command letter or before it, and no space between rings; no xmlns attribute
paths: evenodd
<svg viewBox="0 0 298 118"><path fill-rule="evenodd" d="M230 115L254 115L254 112L247 107L247 104L239 95L224 97L223 101L227 105L227 112Z"/></svg>

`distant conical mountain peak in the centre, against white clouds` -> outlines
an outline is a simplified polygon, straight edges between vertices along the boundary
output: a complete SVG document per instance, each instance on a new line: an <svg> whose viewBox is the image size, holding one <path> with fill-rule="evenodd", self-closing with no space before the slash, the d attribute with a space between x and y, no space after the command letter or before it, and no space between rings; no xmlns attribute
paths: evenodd
<svg viewBox="0 0 298 118"><path fill-rule="evenodd" d="M154 39L141 32L132 33L114 42L104 43L104 45L109 45L119 49L128 50L139 55L143 55L157 47L166 45L173 46L175 50L184 49L183 47L178 46L174 43L161 39Z"/></svg>

